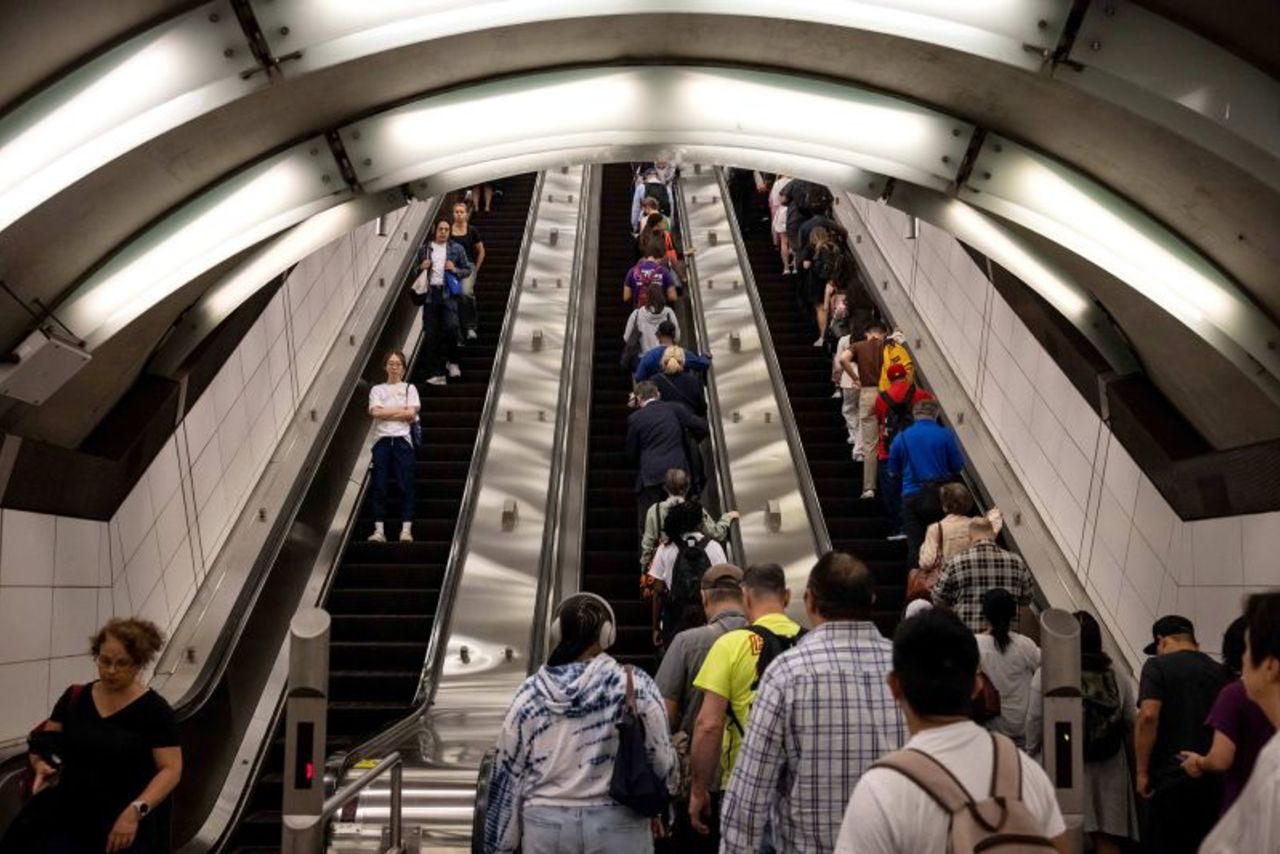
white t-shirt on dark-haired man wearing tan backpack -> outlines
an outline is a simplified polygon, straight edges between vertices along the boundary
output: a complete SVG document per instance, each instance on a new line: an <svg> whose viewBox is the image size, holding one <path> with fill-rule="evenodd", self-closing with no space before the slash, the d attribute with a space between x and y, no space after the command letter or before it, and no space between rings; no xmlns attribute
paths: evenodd
<svg viewBox="0 0 1280 854"><path fill-rule="evenodd" d="M986 800L991 791L991 734L972 721L924 730L902 745L928 753L960 784ZM1023 804L1048 839L1066 831L1048 775L1025 753ZM863 773L849 799L836 840L836 854L946 854L951 817L923 789L896 771Z"/></svg>

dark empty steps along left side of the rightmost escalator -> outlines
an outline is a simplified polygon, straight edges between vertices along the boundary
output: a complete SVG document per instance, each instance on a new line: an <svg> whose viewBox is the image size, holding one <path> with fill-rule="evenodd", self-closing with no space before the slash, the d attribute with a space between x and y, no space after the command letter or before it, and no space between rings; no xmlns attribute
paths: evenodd
<svg viewBox="0 0 1280 854"><path fill-rule="evenodd" d="M859 498L863 465L852 461L841 401L831 396L831 356L813 346L818 335L813 311L801 314L795 287L780 273L778 251L767 228L754 228L744 243L832 548L870 567L877 590L874 621L884 636L892 636L906 593L906 543L887 540L884 508L878 501Z"/></svg>

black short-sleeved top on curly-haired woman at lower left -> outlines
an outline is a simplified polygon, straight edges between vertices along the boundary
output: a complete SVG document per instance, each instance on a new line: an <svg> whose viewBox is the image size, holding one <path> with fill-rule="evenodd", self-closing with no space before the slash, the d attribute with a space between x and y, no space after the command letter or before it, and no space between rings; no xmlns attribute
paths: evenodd
<svg viewBox="0 0 1280 854"><path fill-rule="evenodd" d="M178 746L178 721L163 697L147 690L119 712L102 717L93 703L93 685L76 702L63 693L49 720L63 725L63 761L59 775L61 807L77 821L86 837L106 850L106 837L120 813L138 799L156 776L155 748ZM152 804L155 807L155 804ZM156 813L138 825L138 841L148 850L157 845Z"/></svg>

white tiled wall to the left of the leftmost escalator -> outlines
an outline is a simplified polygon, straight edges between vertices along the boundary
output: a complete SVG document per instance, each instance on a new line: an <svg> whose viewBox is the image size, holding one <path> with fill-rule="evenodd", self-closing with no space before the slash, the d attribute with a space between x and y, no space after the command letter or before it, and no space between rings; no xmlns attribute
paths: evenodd
<svg viewBox="0 0 1280 854"><path fill-rule="evenodd" d="M369 223L294 268L110 521L0 511L0 743L93 679L105 620L178 624L389 239Z"/></svg>

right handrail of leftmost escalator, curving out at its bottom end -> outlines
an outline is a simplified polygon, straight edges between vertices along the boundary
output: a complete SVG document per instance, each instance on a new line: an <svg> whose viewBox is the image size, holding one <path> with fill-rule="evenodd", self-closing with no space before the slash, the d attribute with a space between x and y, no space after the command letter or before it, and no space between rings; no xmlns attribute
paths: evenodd
<svg viewBox="0 0 1280 854"><path fill-rule="evenodd" d="M356 744L346 752L337 753L325 761L325 775L340 780L342 775L361 757L376 753L387 745L397 744L417 725L422 713L435 697L435 686L439 684L440 668L444 666L444 641L447 629L453 611L453 599L458 589L462 575L462 561L466 557L467 543L471 533L471 520L475 517L476 502L480 497L479 467L488 453L489 440L493 435L493 420L498 408L498 388L492 378L500 374L507 364L507 355L511 351L511 338L515 332L515 318L520 305L520 280L525 268L529 265L529 250L532 245L532 227L538 215L538 200L541 196L544 173L538 173L534 183L532 201L529 206L529 216L525 219L525 238L520 247L520 256L516 260L516 271L512 278L511 296L507 297L507 311L498 333L498 348L494 366L490 373L489 389L485 393L484 407L480 411L480 430L476 434L476 443L471 449L471 462L467 469L466 485L462 488L462 504L458 512L457 533L449 548L445 561L444 580L440 584L439 606L435 620L431 621L431 634L426 643L426 656L422 658L422 670L419 675L417 691L413 695L413 708L404 717L385 727L369 739Z"/></svg>

